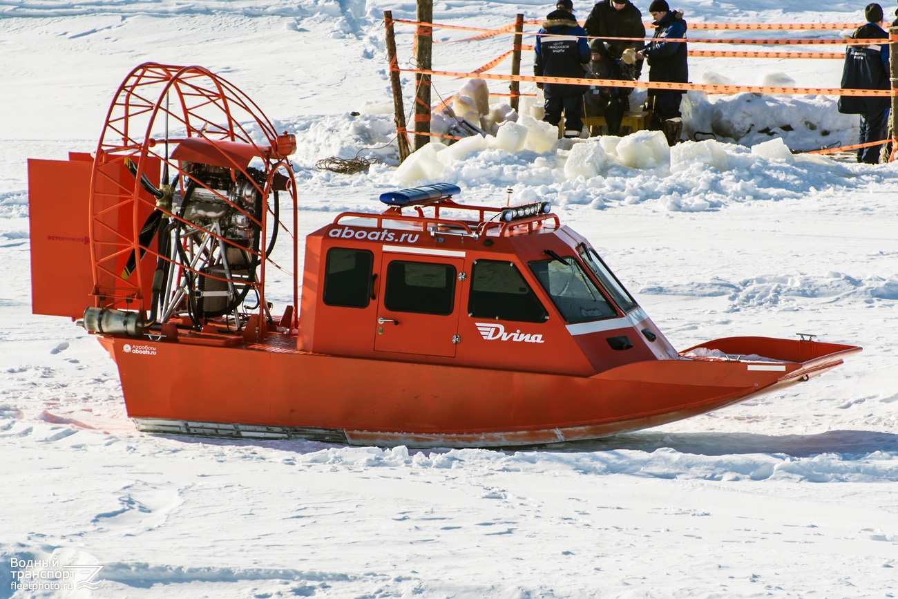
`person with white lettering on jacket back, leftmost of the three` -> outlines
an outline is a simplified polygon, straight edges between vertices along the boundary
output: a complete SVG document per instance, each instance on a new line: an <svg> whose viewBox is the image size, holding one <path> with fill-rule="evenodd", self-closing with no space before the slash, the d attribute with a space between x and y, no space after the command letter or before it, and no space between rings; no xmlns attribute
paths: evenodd
<svg viewBox="0 0 898 599"><path fill-rule="evenodd" d="M556 10L546 16L546 22L537 33L534 49L533 75L584 78L585 66L590 59L589 44L586 32L574 18L571 0L559 0ZM557 126L563 110L564 137L580 137L585 85L538 83L536 86L545 97L546 114L542 120Z"/></svg>

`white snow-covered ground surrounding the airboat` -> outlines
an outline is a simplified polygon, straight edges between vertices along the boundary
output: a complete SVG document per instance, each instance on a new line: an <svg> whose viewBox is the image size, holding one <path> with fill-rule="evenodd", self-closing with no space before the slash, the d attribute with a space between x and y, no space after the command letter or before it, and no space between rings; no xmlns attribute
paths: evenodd
<svg viewBox="0 0 898 599"><path fill-rule="evenodd" d="M856 22L863 9L741 4L683 8L690 22ZM665 427L505 452L142 435L99 344L31 315L25 160L91 151L141 62L207 66L296 133L304 233L404 187L384 10L414 18L414 3L383 0L0 2L0 598L894 596L898 167L784 153L854 143L832 97L691 92L686 130L717 140L672 150L640 134L538 153L514 128L451 160L428 148L465 202L504 201L506 187L550 200L677 348L799 332L864 347L808 383ZM436 22L473 27L519 12L547 7L434 7ZM762 35L784 37L739 37ZM510 44L438 44L435 65L472 69ZM696 82L837 87L840 73L837 60L691 60ZM511 125L538 128L527 116ZM314 168L360 151L381 160L367 175ZM64 566L84 580L91 565L95 590L17 586Z"/></svg>

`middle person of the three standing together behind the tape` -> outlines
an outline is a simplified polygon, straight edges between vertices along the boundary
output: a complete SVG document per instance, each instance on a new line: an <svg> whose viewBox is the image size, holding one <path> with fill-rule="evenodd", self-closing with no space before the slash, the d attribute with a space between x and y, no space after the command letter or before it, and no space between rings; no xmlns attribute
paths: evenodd
<svg viewBox="0 0 898 599"><path fill-rule="evenodd" d="M613 76L598 76L599 79L625 79L636 81L642 74L642 60L621 59L628 48L638 48L646 37L646 27L642 24L642 13L629 0L602 0L593 6L583 25L593 50L593 63L598 70L610 71ZM610 38L638 38L638 40L612 40ZM630 50L632 51L632 50ZM611 101L605 111L608 133L618 135L623 114L629 110L629 94L632 87L599 88L600 94Z"/></svg>

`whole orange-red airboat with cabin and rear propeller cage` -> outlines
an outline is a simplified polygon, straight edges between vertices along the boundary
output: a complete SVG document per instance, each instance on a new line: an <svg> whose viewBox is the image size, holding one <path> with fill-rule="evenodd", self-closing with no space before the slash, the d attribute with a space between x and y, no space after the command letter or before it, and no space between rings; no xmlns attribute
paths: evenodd
<svg viewBox="0 0 898 599"><path fill-rule="evenodd" d="M449 184L308 235L300 301L294 151L221 77L146 64L95 154L29 161L33 312L96 335L140 430L539 445L716 410L860 351L677 352L548 204L466 205Z"/></svg>

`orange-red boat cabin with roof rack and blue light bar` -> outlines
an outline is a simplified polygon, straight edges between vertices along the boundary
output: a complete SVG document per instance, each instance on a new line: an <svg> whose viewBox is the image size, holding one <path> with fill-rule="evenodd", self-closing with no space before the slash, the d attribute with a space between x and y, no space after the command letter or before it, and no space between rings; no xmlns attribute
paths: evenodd
<svg viewBox="0 0 898 599"><path fill-rule="evenodd" d="M590 375L676 351L548 202L482 207L455 185L384 193L306 239L298 348Z"/></svg>

